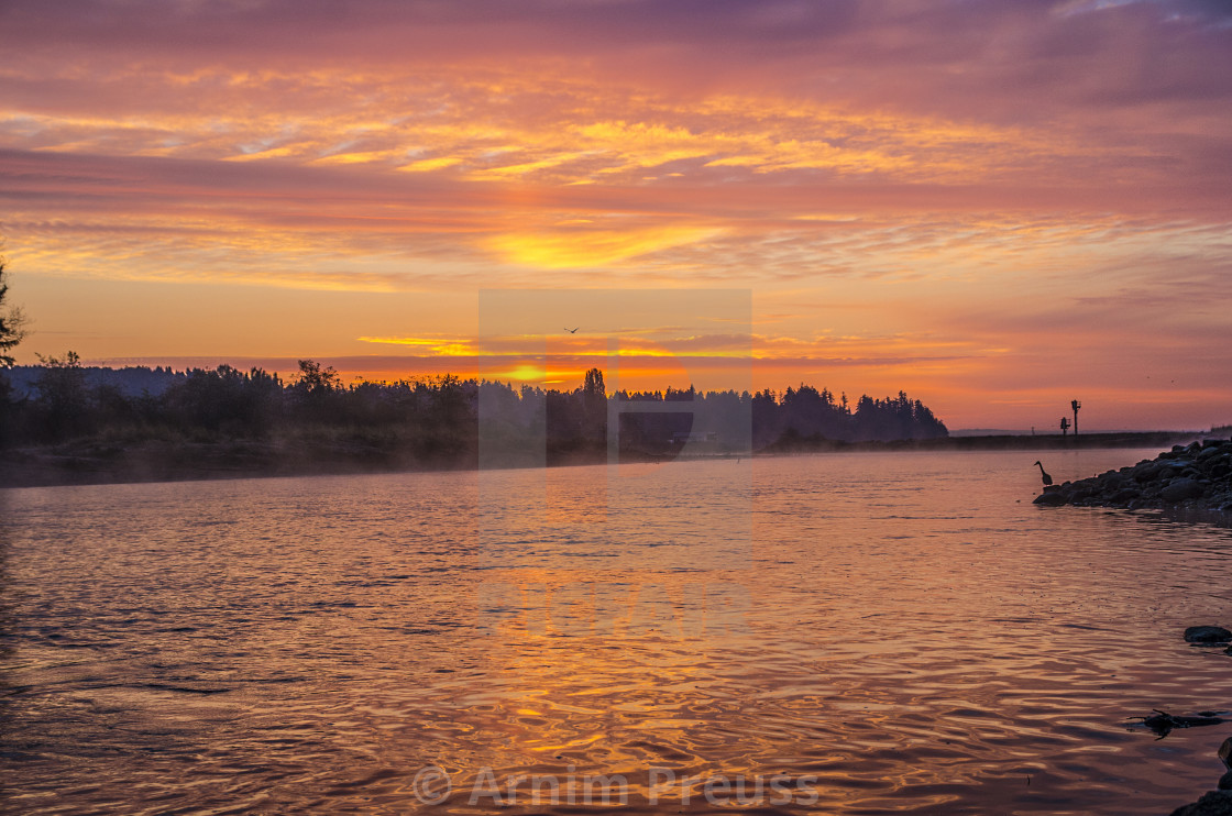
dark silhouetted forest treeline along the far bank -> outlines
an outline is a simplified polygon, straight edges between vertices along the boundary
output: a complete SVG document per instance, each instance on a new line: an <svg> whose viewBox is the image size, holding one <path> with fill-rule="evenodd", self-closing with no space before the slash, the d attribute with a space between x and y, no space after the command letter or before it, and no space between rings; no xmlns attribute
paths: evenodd
<svg viewBox="0 0 1232 816"><path fill-rule="evenodd" d="M0 382L7 459L58 446L86 460L144 451L143 466L154 471L188 467L193 457L240 471L460 468L479 462L480 425L489 436L540 440L548 465L605 461L612 449L636 461L685 449L721 456L947 435L902 392L851 406L845 394L807 385L609 394L598 369L578 388L545 390L455 375L344 385L312 360L299 361L288 381L227 365L85 367L73 353L42 362L11 369L10 382ZM611 438L610 417L618 417Z"/></svg>

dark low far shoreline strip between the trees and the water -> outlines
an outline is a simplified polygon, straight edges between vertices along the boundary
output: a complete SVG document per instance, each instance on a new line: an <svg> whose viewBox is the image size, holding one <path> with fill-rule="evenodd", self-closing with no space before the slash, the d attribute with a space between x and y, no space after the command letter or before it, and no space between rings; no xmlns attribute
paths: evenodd
<svg viewBox="0 0 1232 816"><path fill-rule="evenodd" d="M997 451L997 450L1087 450L1152 447L1202 438L1194 431L1120 431L1080 436L944 436L934 439L870 440L846 443L802 438L748 451L713 451L700 455L621 451L627 462L695 461L796 456L844 452L912 451ZM606 449L551 451L548 467L601 465ZM510 462L509 467L531 466ZM363 476L377 473L424 473L479 470L474 451L458 451L421 460L376 444L334 440L216 440L203 443L144 440L117 444L84 439L60 445L0 450L0 489L23 487L69 487L86 484L132 484L197 482L233 478L278 478L296 476Z"/></svg>

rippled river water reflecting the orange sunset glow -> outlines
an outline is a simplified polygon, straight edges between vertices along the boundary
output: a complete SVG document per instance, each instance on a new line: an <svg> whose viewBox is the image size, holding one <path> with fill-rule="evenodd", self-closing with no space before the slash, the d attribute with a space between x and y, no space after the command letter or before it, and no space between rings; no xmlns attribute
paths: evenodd
<svg viewBox="0 0 1232 816"><path fill-rule="evenodd" d="M1232 532L1035 507L1034 460L2 491L0 805L1169 812L1232 724L1127 717L1232 709L1180 637Z"/></svg>

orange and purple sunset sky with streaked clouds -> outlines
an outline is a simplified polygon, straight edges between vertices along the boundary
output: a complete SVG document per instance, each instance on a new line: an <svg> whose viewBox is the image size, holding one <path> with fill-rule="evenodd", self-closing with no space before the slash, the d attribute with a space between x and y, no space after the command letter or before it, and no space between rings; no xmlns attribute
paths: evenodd
<svg viewBox="0 0 1232 816"><path fill-rule="evenodd" d="M20 362L1204 429L1232 4L0 0L0 238Z"/></svg>

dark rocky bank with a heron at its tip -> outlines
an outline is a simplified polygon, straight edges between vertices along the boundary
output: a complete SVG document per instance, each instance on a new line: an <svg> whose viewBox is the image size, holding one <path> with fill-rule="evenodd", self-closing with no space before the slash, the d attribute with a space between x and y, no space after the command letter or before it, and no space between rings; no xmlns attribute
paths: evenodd
<svg viewBox="0 0 1232 816"><path fill-rule="evenodd" d="M1232 440L1175 445L1119 471L1052 484L1035 504L1232 513Z"/></svg>

